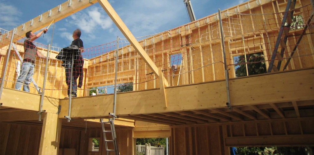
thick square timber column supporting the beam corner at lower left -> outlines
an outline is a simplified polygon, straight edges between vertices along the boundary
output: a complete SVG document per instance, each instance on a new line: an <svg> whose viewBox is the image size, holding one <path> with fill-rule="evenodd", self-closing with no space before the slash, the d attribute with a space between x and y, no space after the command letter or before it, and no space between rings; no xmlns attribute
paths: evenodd
<svg viewBox="0 0 314 155"><path fill-rule="evenodd" d="M45 113L39 154L58 154L62 120L58 114Z"/></svg>

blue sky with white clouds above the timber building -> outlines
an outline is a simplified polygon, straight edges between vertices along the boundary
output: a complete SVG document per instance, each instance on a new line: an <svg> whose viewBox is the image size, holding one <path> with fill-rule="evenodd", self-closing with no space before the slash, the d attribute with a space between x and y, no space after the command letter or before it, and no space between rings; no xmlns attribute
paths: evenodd
<svg viewBox="0 0 314 155"><path fill-rule="evenodd" d="M72 0L74 1L74 0ZM56 7L66 0L0 0L0 28L11 30L30 19ZM196 19L224 10L245 0L191 0ZM135 37L163 32L189 23L183 0L109 0L123 22ZM36 40L51 43L53 24L45 37ZM84 48L94 47L125 38L99 3L57 21L54 26L52 46L71 44L74 29L82 30Z"/></svg>

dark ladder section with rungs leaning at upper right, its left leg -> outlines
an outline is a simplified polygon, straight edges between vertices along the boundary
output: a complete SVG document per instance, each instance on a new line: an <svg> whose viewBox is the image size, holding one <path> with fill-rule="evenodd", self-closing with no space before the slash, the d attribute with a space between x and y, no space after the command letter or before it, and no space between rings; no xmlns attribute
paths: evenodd
<svg viewBox="0 0 314 155"><path fill-rule="evenodd" d="M295 9L295 3L296 0L288 0L286 9L284 11L284 17L281 22L279 34L275 43L275 48L273 50L273 54L271 57L271 61L269 63L269 67L267 69L267 72L271 72L272 70L277 72L280 70L281 61L283 61L284 56L284 50L287 48L286 43L289 36L289 30L293 19L293 13ZM287 24L287 25L285 25ZM283 35L284 33L284 35ZM280 53L277 51L279 48L279 45L281 45L281 51ZM277 57L278 63L277 67L274 65L275 58Z"/></svg>

